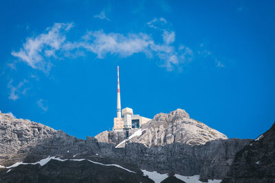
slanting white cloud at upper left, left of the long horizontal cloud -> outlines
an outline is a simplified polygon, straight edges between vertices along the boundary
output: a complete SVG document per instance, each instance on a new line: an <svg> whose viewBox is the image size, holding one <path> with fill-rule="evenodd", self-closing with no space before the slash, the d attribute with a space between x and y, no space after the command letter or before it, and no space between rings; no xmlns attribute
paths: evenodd
<svg viewBox="0 0 275 183"><path fill-rule="evenodd" d="M73 26L73 23L55 23L45 33L27 38L20 51L12 51L12 56L27 62L33 69L47 72L51 66L47 58L56 57L56 51L61 49L66 40L64 32Z"/></svg>

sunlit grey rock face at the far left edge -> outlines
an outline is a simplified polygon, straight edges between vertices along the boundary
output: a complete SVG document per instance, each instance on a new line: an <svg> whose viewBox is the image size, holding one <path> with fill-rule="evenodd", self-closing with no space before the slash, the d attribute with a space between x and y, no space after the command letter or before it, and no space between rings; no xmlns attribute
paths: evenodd
<svg viewBox="0 0 275 183"><path fill-rule="evenodd" d="M58 131L30 120L14 119L0 112L0 164L18 162L31 147L52 138Z"/></svg>

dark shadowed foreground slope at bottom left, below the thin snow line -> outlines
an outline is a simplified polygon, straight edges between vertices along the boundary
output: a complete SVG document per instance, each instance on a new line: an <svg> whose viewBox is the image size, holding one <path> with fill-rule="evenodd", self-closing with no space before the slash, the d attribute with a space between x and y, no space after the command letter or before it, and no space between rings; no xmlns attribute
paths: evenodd
<svg viewBox="0 0 275 183"><path fill-rule="evenodd" d="M50 160L41 167L39 164L19 165L6 173L0 170L1 182L153 182L142 175L142 171L131 173L118 167L105 167L87 160Z"/></svg>

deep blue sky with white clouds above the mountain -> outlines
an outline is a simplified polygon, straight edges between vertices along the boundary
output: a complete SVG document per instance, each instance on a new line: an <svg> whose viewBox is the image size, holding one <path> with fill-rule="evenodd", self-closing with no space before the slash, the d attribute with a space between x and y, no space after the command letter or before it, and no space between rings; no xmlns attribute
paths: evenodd
<svg viewBox="0 0 275 183"><path fill-rule="evenodd" d="M1 1L0 110L78 138L181 108L230 138L275 121L274 1Z"/></svg>

